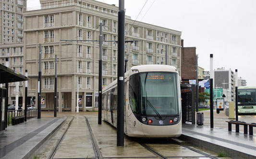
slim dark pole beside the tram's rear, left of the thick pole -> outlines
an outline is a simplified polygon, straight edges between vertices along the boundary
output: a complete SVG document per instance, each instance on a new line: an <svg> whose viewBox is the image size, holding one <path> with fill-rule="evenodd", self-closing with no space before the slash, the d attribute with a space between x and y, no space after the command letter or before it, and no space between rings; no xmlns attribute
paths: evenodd
<svg viewBox="0 0 256 159"><path fill-rule="evenodd" d="M98 124L101 124L102 110L102 22L99 23L99 60L98 60Z"/></svg>

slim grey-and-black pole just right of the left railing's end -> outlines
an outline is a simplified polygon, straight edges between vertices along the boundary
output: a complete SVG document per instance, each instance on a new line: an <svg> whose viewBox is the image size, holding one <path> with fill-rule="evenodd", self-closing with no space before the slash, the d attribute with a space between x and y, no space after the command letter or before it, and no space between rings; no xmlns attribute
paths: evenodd
<svg viewBox="0 0 256 159"><path fill-rule="evenodd" d="M41 70L41 63L42 63L42 44L39 44L39 72L38 72L38 100L37 100L37 118L41 118L41 85L42 85L42 70Z"/></svg>

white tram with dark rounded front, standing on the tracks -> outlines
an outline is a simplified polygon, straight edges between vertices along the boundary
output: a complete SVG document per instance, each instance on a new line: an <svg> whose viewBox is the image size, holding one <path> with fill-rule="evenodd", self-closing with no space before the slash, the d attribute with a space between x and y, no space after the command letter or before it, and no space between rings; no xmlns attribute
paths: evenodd
<svg viewBox="0 0 256 159"><path fill-rule="evenodd" d="M138 65L125 73L124 132L130 137L182 134L180 78L170 65ZM117 127L117 80L102 91L103 119Z"/></svg>

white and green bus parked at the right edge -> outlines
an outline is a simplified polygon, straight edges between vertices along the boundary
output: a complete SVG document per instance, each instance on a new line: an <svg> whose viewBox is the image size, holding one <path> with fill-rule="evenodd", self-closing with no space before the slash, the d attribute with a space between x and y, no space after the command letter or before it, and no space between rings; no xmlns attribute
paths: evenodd
<svg viewBox="0 0 256 159"><path fill-rule="evenodd" d="M238 114L256 114L256 87L238 87L237 96Z"/></svg>

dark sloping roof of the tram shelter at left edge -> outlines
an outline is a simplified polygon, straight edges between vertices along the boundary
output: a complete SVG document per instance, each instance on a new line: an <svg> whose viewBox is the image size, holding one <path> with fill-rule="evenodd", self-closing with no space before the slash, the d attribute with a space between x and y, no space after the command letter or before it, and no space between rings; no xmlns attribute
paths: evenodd
<svg viewBox="0 0 256 159"><path fill-rule="evenodd" d="M0 64L0 84L27 81L29 78Z"/></svg>

